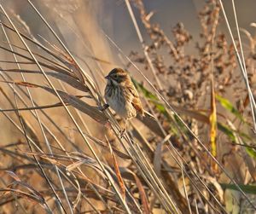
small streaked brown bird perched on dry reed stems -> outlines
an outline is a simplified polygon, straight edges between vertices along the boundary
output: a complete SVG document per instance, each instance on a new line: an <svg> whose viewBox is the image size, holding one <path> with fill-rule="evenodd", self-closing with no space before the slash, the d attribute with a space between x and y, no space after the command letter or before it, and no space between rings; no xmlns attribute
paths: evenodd
<svg viewBox="0 0 256 214"><path fill-rule="evenodd" d="M129 74L121 68L114 68L105 78L108 79L105 99L108 106L125 119L126 130L128 119L136 117L137 113L144 116L142 102Z"/></svg>

